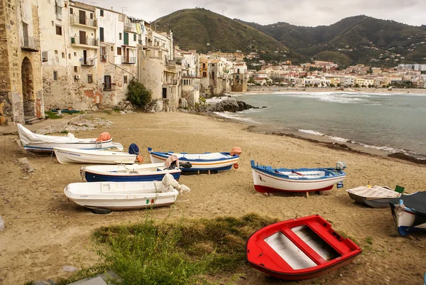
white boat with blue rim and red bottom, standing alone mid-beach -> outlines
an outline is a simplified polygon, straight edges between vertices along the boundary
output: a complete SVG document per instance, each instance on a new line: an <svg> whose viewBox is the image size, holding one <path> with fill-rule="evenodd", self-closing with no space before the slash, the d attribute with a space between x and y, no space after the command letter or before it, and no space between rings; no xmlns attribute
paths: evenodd
<svg viewBox="0 0 426 285"><path fill-rule="evenodd" d="M336 168L273 168L251 161L254 188L261 193L330 190L334 184L342 186L346 163L338 162Z"/></svg>

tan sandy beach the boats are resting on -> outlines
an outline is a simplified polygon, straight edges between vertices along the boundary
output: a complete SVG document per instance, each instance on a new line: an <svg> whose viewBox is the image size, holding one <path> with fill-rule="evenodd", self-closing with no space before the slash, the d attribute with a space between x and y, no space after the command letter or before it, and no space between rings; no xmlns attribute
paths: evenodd
<svg viewBox="0 0 426 285"><path fill-rule="evenodd" d="M319 90L315 88L315 90ZM307 90L306 90L307 91ZM321 89L320 91L325 91ZM421 90L422 91L422 90ZM308 91L307 91L308 92ZM309 91L310 92L310 91ZM426 235L400 237L391 210L356 205L346 189L359 185L403 185L406 193L426 190L426 167L395 158L363 155L329 149L321 144L288 136L247 131L249 127L217 117L180 112L157 114L99 113L95 117L114 124L108 129L74 131L76 137L97 137L109 131L127 148L136 143L145 163L147 147L157 151L243 150L239 169L212 175L185 175L180 179L191 192L178 197L171 213L182 216L217 217L258 213L280 220L320 214L364 249L349 266L318 279L297 284L421 284L426 271ZM57 280L72 273L62 267L89 266L97 262L91 235L104 225L136 222L144 210L95 215L67 201L63 189L80 182L80 165L62 165L55 157L26 154L16 144L18 136L0 136L0 215L5 229L0 232L0 284L24 284L30 280ZM23 171L16 163L27 157L35 169ZM250 160L288 168L335 166L346 161L344 188L304 195L266 197L253 188ZM153 210L155 218L169 215L170 208ZM282 284L249 268L239 284Z"/></svg>

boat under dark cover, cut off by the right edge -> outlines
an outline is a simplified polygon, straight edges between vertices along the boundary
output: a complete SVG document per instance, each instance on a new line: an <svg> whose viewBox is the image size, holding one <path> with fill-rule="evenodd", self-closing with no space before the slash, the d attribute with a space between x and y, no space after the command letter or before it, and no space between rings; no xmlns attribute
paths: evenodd
<svg viewBox="0 0 426 285"><path fill-rule="evenodd" d="M401 195L389 204L400 235L426 230L426 191Z"/></svg>

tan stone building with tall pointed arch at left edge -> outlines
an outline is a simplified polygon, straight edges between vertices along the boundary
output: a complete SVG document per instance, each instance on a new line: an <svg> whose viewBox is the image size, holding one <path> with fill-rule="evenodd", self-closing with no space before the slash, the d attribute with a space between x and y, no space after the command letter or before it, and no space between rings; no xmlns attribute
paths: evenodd
<svg viewBox="0 0 426 285"><path fill-rule="evenodd" d="M0 124L44 117L35 0L0 0Z"/></svg>

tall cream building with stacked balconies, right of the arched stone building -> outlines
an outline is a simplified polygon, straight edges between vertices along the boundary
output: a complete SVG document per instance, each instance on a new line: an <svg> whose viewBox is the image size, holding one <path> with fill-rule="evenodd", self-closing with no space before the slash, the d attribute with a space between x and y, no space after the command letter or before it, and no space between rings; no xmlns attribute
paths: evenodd
<svg viewBox="0 0 426 285"><path fill-rule="evenodd" d="M141 23L76 1L42 1L40 12L45 106L84 110L125 100L137 77Z"/></svg>

